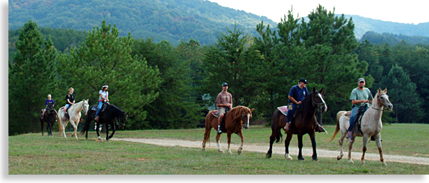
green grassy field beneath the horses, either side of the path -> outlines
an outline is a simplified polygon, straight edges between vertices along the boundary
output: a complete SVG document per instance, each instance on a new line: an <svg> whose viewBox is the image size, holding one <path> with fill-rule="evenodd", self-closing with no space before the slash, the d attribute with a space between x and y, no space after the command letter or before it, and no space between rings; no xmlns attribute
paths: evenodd
<svg viewBox="0 0 429 183"><path fill-rule="evenodd" d="M327 144L334 126L326 126L329 134L318 133L318 149L339 150L339 135ZM383 154L403 156L429 156L428 124L392 124L383 126ZM172 138L203 140L204 129L118 131L115 138ZM250 126L244 131L245 144L266 145L271 129L265 126ZM67 133L70 136L71 132ZM367 161L361 165L346 159L319 158L318 162L287 161L280 154L266 159L265 154L246 152L243 154L219 154L217 149L161 147L137 142L97 142L95 133L89 139L79 140L29 133L8 137L8 174L428 174L429 166L379 161ZM215 145L212 132L212 146ZM105 137L102 134L102 137ZM362 138L353 146L354 153L361 154ZM226 135L221 138L226 142ZM308 136L304 136L304 148L311 148ZM238 136L233 136L238 143ZM277 144L282 147L282 144ZM297 147L297 138L291 147ZM378 153L374 142L369 142L369 153Z"/></svg>

